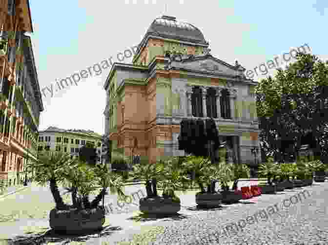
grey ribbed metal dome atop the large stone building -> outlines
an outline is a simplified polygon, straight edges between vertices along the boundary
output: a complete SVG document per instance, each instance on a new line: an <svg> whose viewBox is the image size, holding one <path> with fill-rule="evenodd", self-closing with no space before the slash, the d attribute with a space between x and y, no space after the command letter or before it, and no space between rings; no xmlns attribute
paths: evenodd
<svg viewBox="0 0 328 245"><path fill-rule="evenodd" d="M153 21L145 36L158 36L197 44L208 44L203 33L195 26L177 21L175 17L162 16Z"/></svg>

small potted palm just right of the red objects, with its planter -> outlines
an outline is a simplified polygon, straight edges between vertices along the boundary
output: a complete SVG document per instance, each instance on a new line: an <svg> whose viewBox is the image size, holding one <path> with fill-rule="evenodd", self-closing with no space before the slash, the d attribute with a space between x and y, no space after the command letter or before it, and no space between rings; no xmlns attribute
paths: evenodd
<svg viewBox="0 0 328 245"><path fill-rule="evenodd" d="M267 184L258 185L262 189L262 194L274 193L277 189L273 185L273 178L279 173L279 166L273 162L272 158L269 158L266 163L259 166L259 176L267 179Z"/></svg>

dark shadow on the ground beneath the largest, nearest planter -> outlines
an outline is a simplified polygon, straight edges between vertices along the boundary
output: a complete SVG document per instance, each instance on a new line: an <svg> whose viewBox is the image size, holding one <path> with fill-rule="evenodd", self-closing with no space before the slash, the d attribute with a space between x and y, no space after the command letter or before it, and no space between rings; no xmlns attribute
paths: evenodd
<svg viewBox="0 0 328 245"><path fill-rule="evenodd" d="M47 229L47 228L44 228ZM70 242L86 242L90 238L98 238L102 236L110 236L117 230L122 230L121 226L104 226L101 230L85 232L83 234L67 235L59 233L53 229L47 230L45 233L26 233L26 236L17 236L7 240L8 245L46 245L48 243L69 244Z"/></svg>

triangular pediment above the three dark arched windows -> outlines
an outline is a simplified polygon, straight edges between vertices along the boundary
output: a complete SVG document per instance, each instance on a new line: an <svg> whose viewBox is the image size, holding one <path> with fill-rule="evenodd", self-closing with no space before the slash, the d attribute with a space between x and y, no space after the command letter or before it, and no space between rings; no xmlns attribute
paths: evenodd
<svg viewBox="0 0 328 245"><path fill-rule="evenodd" d="M231 66L224 61L214 57L194 58L193 60L185 60L175 66L195 71L211 72L217 74L237 75L237 68Z"/></svg>

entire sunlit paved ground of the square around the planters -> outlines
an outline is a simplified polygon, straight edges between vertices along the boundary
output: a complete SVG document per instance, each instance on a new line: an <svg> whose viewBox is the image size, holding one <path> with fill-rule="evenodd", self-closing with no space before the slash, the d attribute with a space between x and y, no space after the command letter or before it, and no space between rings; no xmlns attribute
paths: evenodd
<svg viewBox="0 0 328 245"><path fill-rule="evenodd" d="M241 181L242 186L256 185L257 182ZM125 193L138 190L145 193L143 185L127 186ZM281 204L300 191L308 189L311 196L281 208L278 214L257 224L247 225L237 234L222 232L222 228L231 222L245 219L262 208ZM116 195L107 195L105 204L112 203L112 211L106 215L105 229L101 234L74 239L47 240L49 245L109 245L109 244L311 244L307 242L328 241L326 230L327 210L325 200L328 198L328 183L316 183L313 187L294 188L276 195L262 195L222 208L197 210L195 193L178 192L182 201L179 217L145 218L140 215L139 205L117 202ZM92 198L92 197L91 197ZM91 199L90 198L90 199ZM66 195L64 200L70 200ZM135 201L139 204L139 201ZM0 202L0 244L1 239L17 236L29 236L44 233L49 229L49 212L54 202L48 187L35 184L17 194L6 197ZM121 206L121 207L119 207ZM100 237L101 236L101 237ZM326 239L326 240L325 240ZM72 241L72 242L69 242ZM244 243L243 243L244 242ZM265 243L266 242L266 243ZM298 242L298 243L297 243ZM21 243L15 243L21 244ZM31 243L32 244L32 243ZM314 244L314 243L312 243ZM327 243L328 244L328 243Z"/></svg>

